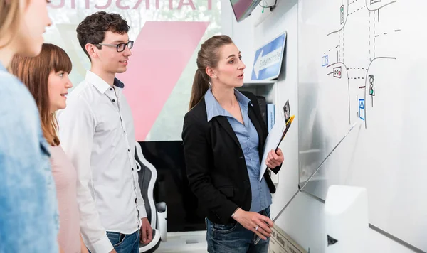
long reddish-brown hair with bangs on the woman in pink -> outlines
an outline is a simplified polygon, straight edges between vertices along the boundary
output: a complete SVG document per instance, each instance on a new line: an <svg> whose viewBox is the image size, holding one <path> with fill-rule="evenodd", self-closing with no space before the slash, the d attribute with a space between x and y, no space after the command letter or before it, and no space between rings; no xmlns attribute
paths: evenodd
<svg viewBox="0 0 427 253"><path fill-rule="evenodd" d="M48 81L52 70L70 74L71 60L58 45L44 43L40 55L23 57L15 55L11 62L11 72L23 82L36 99L40 113L43 136L51 146L58 146L58 124L55 113L51 113Z"/></svg>

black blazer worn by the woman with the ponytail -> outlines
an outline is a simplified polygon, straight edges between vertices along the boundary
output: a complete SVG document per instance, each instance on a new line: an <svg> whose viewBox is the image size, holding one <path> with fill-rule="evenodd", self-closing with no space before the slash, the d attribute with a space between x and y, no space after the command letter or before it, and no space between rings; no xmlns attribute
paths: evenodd
<svg viewBox="0 0 427 253"><path fill-rule="evenodd" d="M253 104L248 107L248 116L258 132L261 161L268 129L255 95L242 93ZM231 215L238 207L250 210L252 192L243 150L228 119L218 116L208 122L206 103L202 98L184 117L182 139L189 187L198 198L200 208L212 222L235 222ZM280 167L274 168L273 172L278 173ZM268 170L264 178L270 193L275 193Z"/></svg>

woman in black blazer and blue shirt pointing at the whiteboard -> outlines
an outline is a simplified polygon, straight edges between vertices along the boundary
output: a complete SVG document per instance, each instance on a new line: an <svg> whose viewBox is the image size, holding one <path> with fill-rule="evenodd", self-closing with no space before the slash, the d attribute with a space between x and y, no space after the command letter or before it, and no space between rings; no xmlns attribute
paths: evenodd
<svg viewBox="0 0 427 253"><path fill-rule="evenodd" d="M259 181L268 135L255 95L238 92L245 65L228 36L209 38L199 50L184 117L184 155L189 186L206 212L208 252L268 251L270 193L268 171ZM278 173L283 154L270 151L266 166ZM256 235L263 241L254 244Z"/></svg>

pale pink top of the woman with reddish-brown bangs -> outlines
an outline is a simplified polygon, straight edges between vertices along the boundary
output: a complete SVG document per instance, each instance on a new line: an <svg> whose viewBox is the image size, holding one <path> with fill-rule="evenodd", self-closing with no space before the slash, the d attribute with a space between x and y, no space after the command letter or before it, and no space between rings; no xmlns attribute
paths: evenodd
<svg viewBox="0 0 427 253"><path fill-rule="evenodd" d="M59 245L64 253L80 253L77 171L60 146L51 146L51 163L58 198Z"/></svg>

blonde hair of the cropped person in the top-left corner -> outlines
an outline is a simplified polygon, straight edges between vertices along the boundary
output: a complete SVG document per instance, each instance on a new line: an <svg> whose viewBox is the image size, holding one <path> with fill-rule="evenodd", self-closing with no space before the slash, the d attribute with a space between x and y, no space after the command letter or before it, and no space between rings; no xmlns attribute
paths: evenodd
<svg viewBox="0 0 427 253"><path fill-rule="evenodd" d="M20 0L0 0L0 38L7 34L10 36L6 43L0 44L0 48L4 48L11 43L14 38L14 31L19 26L19 18L21 18Z"/></svg>

